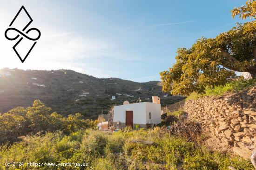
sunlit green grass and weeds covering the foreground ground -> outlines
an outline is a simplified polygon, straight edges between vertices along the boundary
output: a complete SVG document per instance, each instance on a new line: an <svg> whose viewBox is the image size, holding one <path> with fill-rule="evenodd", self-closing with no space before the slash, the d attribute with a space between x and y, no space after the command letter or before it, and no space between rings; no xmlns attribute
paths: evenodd
<svg viewBox="0 0 256 170"><path fill-rule="evenodd" d="M154 141L153 145L129 142L132 139ZM238 156L210 151L185 138L178 138L156 127L154 130L105 133L95 130L77 131L69 135L46 133L24 137L19 143L0 147L0 170L5 162L75 162L84 167L48 166L42 170L253 170L252 164ZM10 166L9 170L26 169ZM30 167L32 168L32 167ZM34 168L34 167L33 167Z"/></svg>

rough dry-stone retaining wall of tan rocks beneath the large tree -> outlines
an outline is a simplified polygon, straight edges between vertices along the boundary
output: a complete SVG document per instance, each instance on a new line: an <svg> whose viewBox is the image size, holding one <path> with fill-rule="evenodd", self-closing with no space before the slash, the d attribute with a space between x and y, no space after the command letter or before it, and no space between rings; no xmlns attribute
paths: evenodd
<svg viewBox="0 0 256 170"><path fill-rule="evenodd" d="M200 122L216 143L250 157L256 145L256 87L186 101L184 111L189 119Z"/></svg>

